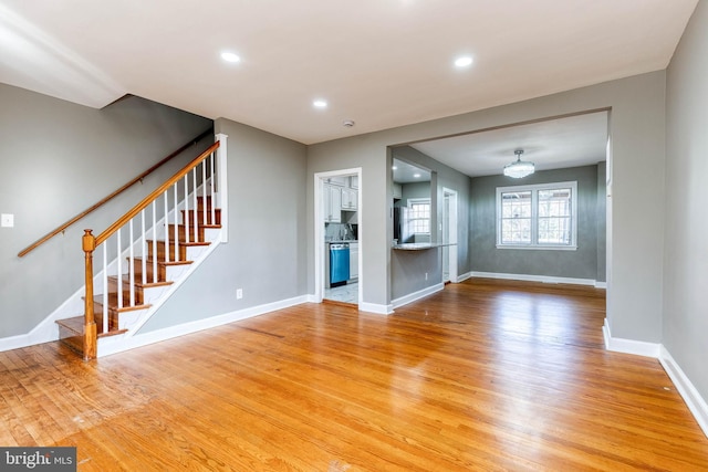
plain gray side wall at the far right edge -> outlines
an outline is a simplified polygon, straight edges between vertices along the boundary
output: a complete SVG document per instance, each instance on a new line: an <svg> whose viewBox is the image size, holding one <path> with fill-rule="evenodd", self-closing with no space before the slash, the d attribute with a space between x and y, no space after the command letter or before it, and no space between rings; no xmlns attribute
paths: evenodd
<svg viewBox="0 0 708 472"><path fill-rule="evenodd" d="M664 346L704 399L708 399L707 3L698 2L667 73L663 331Z"/></svg>

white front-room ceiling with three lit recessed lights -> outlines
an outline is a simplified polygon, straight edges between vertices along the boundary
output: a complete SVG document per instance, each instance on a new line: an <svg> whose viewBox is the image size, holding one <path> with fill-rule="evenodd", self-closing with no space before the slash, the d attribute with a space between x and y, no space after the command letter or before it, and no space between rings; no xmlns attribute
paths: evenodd
<svg viewBox="0 0 708 472"><path fill-rule="evenodd" d="M313 144L663 70L697 1L0 0L0 82Z"/></svg>

